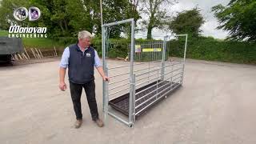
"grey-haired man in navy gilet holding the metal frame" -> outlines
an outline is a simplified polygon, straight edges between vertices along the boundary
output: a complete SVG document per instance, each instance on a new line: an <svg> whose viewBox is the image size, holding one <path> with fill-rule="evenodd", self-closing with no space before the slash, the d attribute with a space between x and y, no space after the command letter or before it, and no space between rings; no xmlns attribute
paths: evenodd
<svg viewBox="0 0 256 144"><path fill-rule="evenodd" d="M81 94L82 88L86 91L87 102L90 107L92 120L99 127L103 126L103 122L98 118L98 107L95 98L95 83L94 83L94 67L102 76L104 81L109 81L102 69L97 51L90 46L92 35L90 32L83 30L78 33L78 43L66 47L62 54L62 60L59 68L59 88L66 90L65 74L68 68L70 94L74 106L74 113L77 121L74 123L75 128L82 125L82 110L81 110Z"/></svg>

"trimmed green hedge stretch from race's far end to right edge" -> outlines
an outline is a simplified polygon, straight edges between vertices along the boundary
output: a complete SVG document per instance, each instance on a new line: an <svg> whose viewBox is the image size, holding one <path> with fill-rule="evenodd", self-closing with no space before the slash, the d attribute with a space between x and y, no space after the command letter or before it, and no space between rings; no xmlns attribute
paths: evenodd
<svg viewBox="0 0 256 144"><path fill-rule="evenodd" d="M184 39L170 42L170 55L181 57ZM186 58L207 61L256 64L256 44L220 41L214 38L189 38Z"/></svg>

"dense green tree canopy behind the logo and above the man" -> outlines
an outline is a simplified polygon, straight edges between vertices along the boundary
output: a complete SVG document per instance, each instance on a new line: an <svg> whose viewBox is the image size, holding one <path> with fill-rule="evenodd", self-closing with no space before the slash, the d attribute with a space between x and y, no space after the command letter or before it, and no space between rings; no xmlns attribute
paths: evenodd
<svg viewBox="0 0 256 144"><path fill-rule="evenodd" d="M139 17L133 3L127 0L103 1L103 22L120 21L126 18ZM38 21L28 19L18 22L14 19L14 10L23 6L37 6L42 16ZM50 37L74 37L79 30L88 30L96 35L101 34L101 15L99 0L2 0L0 2L0 29L8 30L11 24L21 26L46 26ZM110 37L118 38L127 30L115 26L110 30Z"/></svg>

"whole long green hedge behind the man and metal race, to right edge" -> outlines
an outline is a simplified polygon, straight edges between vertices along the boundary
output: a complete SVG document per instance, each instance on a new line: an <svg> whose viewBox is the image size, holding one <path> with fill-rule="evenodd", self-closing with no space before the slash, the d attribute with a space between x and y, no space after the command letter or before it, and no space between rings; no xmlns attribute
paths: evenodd
<svg viewBox="0 0 256 144"><path fill-rule="evenodd" d="M65 46L76 42L76 38L58 38L58 42ZM156 40L153 40L156 41ZM152 40L136 39L136 42L152 42ZM102 40L94 38L93 46L102 55ZM126 58L130 40L125 38L110 39L107 56L109 58ZM185 38L167 42L170 56L182 57ZM201 59L218 62L234 62L256 64L256 44L249 42L232 42L211 37L188 38L186 58Z"/></svg>

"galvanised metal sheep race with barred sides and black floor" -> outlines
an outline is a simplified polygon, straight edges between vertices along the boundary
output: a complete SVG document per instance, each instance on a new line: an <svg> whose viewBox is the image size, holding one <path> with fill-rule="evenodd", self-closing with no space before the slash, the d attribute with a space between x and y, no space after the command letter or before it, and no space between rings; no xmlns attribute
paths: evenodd
<svg viewBox="0 0 256 144"><path fill-rule="evenodd" d="M107 58L110 27L126 23L130 23L131 28L129 60L114 62ZM184 54L183 58L170 60L170 38L173 36L166 35L163 41L158 42L135 43L134 25L134 18L102 25L103 69L110 77L110 82L103 82L105 121L110 115L130 127L150 106L182 86L187 46L187 34L174 35L176 38L186 38ZM111 62L114 66L111 66Z"/></svg>

